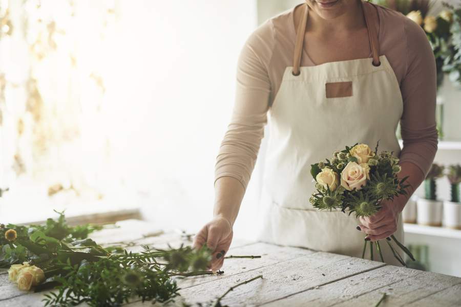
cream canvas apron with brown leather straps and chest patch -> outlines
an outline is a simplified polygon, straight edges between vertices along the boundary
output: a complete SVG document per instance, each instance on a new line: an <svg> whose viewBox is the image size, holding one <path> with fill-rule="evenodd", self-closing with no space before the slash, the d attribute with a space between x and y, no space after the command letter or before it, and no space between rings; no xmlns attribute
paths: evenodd
<svg viewBox="0 0 461 307"><path fill-rule="evenodd" d="M299 67L308 6L297 31L294 65L268 111L270 129L261 190L259 240L362 257L365 233L354 214L320 211L309 198L310 165L355 143L400 154L395 132L403 112L399 83L386 56L379 56L376 8L362 0L373 58ZM328 97L328 98L327 98ZM395 237L402 242L402 218ZM400 264L381 241L385 262ZM369 245L366 258L370 257ZM397 250L400 251L399 248ZM400 254L403 256L402 252ZM379 255L374 248L374 259Z"/></svg>

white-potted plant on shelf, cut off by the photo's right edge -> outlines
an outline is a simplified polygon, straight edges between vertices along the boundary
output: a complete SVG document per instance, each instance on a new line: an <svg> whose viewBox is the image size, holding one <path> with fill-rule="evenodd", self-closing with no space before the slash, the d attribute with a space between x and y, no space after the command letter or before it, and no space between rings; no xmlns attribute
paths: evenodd
<svg viewBox="0 0 461 307"><path fill-rule="evenodd" d="M449 166L447 178L450 181L451 198L450 201L444 202L444 225L449 228L461 229L461 202L459 200L461 165Z"/></svg>

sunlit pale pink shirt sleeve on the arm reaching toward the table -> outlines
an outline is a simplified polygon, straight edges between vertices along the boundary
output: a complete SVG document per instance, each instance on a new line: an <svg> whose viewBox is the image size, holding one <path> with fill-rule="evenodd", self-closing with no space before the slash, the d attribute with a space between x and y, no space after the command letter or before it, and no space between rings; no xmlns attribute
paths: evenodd
<svg viewBox="0 0 461 307"><path fill-rule="evenodd" d="M216 158L215 184L229 176L239 180L246 191L267 124L273 44L273 27L266 21L250 34L240 52L235 103Z"/></svg>

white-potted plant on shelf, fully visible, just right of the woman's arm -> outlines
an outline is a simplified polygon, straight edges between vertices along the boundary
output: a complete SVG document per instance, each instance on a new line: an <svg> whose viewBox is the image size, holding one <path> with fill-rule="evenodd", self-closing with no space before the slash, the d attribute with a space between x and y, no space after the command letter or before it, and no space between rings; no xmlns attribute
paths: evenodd
<svg viewBox="0 0 461 307"><path fill-rule="evenodd" d="M424 180L425 198L416 201L417 223L428 226L442 226L443 201L437 200L437 185L435 180L444 175L444 167L432 164Z"/></svg>

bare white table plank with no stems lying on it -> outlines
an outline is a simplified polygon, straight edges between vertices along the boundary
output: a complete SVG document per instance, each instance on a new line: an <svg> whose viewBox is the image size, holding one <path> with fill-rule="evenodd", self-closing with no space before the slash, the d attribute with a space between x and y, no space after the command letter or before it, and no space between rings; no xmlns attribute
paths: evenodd
<svg viewBox="0 0 461 307"><path fill-rule="evenodd" d="M321 307L333 306L360 295L381 289L395 282L421 274L422 271L411 270L402 267L384 266L362 274L344 278L319 288L313 288L282 300L276 300L267 304L266 307L276 307L281 303L289 306Z"/></svg>

